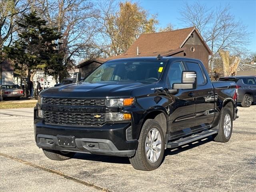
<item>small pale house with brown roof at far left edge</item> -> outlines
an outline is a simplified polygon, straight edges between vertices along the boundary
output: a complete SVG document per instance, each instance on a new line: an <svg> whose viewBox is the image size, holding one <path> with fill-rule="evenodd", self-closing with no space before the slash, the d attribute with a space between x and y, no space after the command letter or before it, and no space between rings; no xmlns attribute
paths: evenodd
<svg viewBox="0 0 256 192"><path fill-rule="evenodd" d="M14 67L8 60L0 63L0 84L13 84Z"/></svg>

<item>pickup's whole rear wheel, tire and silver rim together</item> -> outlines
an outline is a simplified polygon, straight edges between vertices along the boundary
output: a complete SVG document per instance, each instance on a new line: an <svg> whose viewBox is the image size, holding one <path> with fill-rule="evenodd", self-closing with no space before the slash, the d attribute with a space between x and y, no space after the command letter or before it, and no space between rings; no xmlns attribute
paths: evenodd
<svg viewBox="0 0 256 192"><path fill-rule="evenodd" d="M226 143L230 140L233 130L232 114L229 109L224 108L220 115L219 132L214 141Z"/></svg>

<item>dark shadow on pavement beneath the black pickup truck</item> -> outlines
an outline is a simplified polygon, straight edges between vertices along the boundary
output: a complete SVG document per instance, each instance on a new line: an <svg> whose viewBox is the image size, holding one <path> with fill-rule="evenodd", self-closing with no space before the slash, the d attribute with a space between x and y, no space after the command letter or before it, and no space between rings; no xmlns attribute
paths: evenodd
<svg viewBox="0 0 256 192"><path fill-rule="evenodd" d="M198 147L200 145L212 142L212 136L206 137L202 140L197 140L192 143L188 143L184 146L178 148L166 149L164 152L164 158L168 155L176 155L178 153L190 150L192 148ZM116 157L116 156L104 156L104 155L94 155L94 154L85 154L85 153L76 153L73 157L74 159L80 160L89 160L89 161L98 161L98 162L108 162L108 163L117 163L117 164L130 164L129 159L126 157ZM163 161L164 161L163 158Z"/></svg>

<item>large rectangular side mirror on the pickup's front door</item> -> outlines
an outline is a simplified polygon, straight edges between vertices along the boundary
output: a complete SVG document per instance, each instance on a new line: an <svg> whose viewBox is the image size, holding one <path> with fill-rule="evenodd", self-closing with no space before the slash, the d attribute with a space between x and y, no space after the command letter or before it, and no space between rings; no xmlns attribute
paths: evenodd
<svg viewBox="0 0 256 192"><path fill-rule="evenodd" d="M196 72L182 71L182 82L172 84L173 89L196 89Z"/></svg>

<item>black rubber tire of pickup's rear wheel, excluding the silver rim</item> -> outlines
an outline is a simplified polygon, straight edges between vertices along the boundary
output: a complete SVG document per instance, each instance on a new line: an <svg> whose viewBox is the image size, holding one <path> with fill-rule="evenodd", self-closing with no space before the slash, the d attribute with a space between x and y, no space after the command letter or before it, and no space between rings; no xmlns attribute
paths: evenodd
<svg viewBox="0 0 256 192"><path fill-rule="evenodd" d="M225 121L225 116L229 114L230 116L230 134L228 136L225 136L224 133L224 121ZM219 132L218 134L215 136L214 141L216 142L222 142L222 143L226 143L230 140L231 135L232 135L232 130L233 130L233 119L232 119L232 114L230 112L230 110L228 108L223 108L223 111L221 112L220 115L220 124L219 124Z"/></svg>

